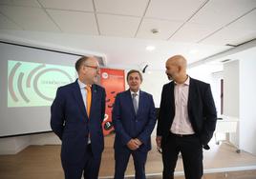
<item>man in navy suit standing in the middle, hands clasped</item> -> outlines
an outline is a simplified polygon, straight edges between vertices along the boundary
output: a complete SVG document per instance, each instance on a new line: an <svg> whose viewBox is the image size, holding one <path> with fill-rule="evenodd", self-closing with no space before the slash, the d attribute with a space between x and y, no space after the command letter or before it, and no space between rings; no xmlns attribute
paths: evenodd
<svg viewBox="0 0 256 179"><path fill-rule="evenodd" d="M132 154L136 179L145 179L147 153L151 149L151 132L156 124L153 97L139 89L142 75L138 70L127 73L130 89L117 94L113 109L115 138L115 179L123 179Z"/></svg>

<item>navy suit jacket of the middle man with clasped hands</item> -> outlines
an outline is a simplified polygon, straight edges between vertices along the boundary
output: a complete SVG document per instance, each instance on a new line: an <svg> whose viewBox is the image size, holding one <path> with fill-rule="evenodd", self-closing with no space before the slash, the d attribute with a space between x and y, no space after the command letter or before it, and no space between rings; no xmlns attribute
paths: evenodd
<svg viewBox="0 0 256 179"><path fill-rule="evenodd" d="M126 144L132 138L138 138L142 142L138 150L151 149L150 136L156 124L156 111L151 94L139 90L139 109L136 114L130 90L118 93L112 114L116 150L128 149Z"/></svg>

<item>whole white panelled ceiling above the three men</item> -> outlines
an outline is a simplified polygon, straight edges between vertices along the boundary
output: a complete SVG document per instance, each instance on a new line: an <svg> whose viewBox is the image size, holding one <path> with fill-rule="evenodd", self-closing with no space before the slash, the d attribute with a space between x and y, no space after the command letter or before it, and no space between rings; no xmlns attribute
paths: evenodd
<svg viewBox="0 0 256 179"><path fill-rule="evenodd" d="M160 70L177 53L193 64L255 40L256 0L1 0L0 34Z"/></svg>

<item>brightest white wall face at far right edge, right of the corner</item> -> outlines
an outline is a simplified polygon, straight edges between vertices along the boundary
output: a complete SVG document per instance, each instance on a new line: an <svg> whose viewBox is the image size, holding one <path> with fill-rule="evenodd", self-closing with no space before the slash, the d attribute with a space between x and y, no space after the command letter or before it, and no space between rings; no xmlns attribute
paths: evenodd
<svg viewBox="0 0 256 179"><path fill-rule="evenodd" d="M240 60L240 148L256 155L256 59Z"/></svg>

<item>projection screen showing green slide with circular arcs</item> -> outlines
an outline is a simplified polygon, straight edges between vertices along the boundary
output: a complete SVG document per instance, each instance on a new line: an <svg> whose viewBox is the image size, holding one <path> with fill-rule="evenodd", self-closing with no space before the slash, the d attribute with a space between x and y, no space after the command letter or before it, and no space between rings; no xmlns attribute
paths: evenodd
<svg viewBox="0 0 256 179"><path fill-rule="evenodd" d="M80 57L0 42L0 137L50 131L59 86L76 79Z"/></svg>

